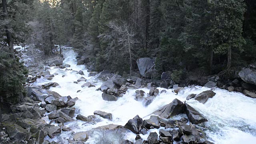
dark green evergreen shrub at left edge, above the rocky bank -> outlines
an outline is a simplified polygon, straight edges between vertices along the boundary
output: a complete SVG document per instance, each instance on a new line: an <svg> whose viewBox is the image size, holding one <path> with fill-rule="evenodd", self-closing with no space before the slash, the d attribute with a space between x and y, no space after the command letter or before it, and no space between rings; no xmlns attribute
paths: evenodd
<svg viewBox="0 0 256 144"><path fill-rule="evenodd" d="M24 92L23 84L28 71L8 48L0 48L0 101L16 104Z"/></svg>

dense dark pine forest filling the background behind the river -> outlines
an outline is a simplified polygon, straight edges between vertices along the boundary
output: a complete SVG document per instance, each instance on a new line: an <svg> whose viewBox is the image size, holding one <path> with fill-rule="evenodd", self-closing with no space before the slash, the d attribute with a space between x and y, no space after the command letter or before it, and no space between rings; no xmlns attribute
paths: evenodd
<svg viewBox="0 0 256 144"><path fill-rule="evenodd" d="M138 58L156 58L154 77L170 71L176 82L186 74L232 74L256 58L254 0L2 0L1 6L0 82L15 69L19 74L7 78L12 86L23 72L12 59L13 44L31 44L43 58L70 44L95 70L121 75L137 72Z"/></svg>

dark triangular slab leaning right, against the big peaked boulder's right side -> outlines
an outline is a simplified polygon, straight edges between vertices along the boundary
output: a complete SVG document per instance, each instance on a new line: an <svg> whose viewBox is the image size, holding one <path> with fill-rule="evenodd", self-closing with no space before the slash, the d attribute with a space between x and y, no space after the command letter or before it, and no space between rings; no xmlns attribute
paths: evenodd
<svg viewBox="0 0 256 144"><path fill-rule="evenodd" d="M202 116L198 111L196 111L194 108L192 108L188 104L185 104L185 112L192 124L200 124L202 122L208 122L208 120L204 118L204 116Z"/></svg>

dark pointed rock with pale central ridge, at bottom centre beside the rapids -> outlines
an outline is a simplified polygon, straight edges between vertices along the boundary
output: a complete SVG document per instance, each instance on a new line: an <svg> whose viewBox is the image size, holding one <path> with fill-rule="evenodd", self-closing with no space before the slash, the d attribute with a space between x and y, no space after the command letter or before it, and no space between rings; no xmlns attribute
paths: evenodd
<svg viewBox="0 0 256 144"><path fill-rule="evenodd" d="M143 120L138 115L135 116L133 119L130 119L125 125L124 128L132 131L134 134L140 133L140 128L142 126Z"/></svg>

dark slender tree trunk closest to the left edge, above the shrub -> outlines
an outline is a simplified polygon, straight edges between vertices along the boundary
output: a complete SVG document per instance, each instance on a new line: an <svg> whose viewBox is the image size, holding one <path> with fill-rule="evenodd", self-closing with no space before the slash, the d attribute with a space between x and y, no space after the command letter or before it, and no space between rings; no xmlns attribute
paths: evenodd
<svg viewBox="0 0 256 144"><path fill-rule="evenodd" d="M8 20L8 12L7 12L7 6L6 6L6 4L7 4L7 3L6 3L6 0L2 0L4 19L5 19L5 20ZM12 51L13 57L15 58L15 56L14 56L13 44L12 44L12 34L11 34L11 32L9 31L8 25L6 25L5 28L6 28L6 37L7 37L8 47L9 47L9 49Z"/></svg>

